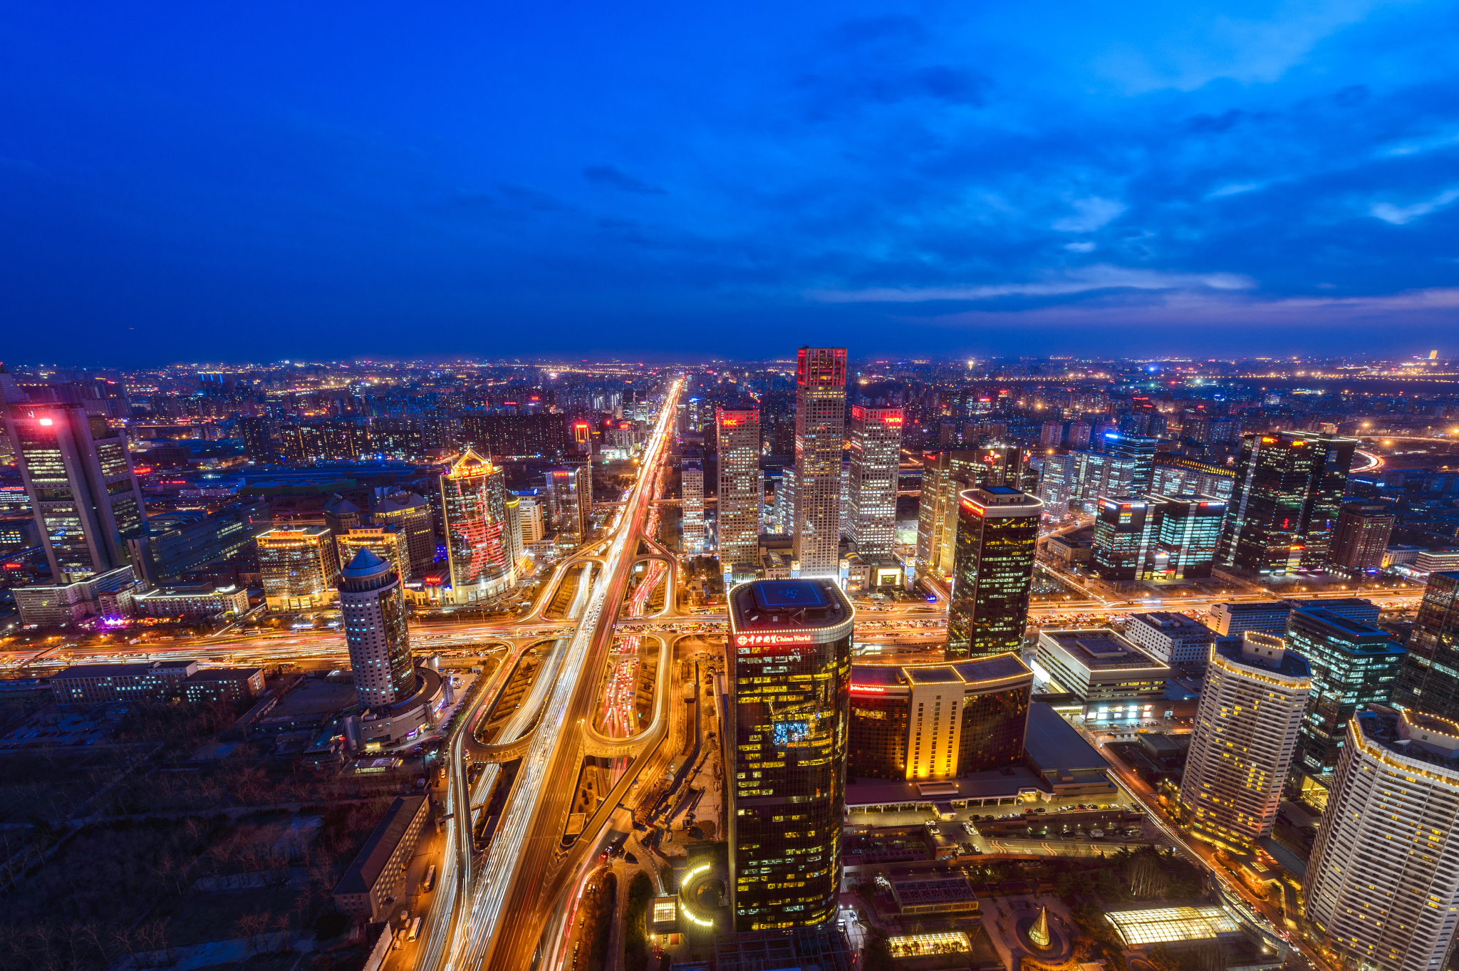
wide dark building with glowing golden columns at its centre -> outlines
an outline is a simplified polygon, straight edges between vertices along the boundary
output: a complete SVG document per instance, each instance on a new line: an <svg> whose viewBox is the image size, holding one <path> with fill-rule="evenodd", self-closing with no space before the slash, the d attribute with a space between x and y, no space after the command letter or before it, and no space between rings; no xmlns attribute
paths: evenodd
<svg viewBox="0 0 1459 971"><path fill-rule="evenodd" d="M846 774L951 779L1015 765L1032 691L1033 672L1017 655L855 665Z"/></svg>

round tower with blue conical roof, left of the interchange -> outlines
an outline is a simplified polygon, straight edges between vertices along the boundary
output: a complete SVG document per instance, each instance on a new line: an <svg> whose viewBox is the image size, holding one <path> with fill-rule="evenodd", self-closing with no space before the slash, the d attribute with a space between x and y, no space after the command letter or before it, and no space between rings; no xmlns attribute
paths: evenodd
<svg viewBox="0 0 1459 971"><path fill-rule="evenodd" d="M340 570L340 614L355 693L365 709L390 709L416 690L400 574L360 547Z"/></svg>

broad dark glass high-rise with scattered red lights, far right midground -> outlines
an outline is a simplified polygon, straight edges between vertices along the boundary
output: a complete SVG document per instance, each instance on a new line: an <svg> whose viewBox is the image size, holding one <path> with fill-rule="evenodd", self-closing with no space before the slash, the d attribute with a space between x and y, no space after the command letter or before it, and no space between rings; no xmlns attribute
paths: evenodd
<svg viewBox="0 0 1459 971"><path fill-rule="evenodd" d="M1326 569L1354 439L1246 434L1220 560L1258 573Z"/></svg>

